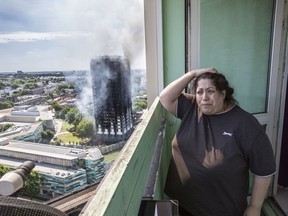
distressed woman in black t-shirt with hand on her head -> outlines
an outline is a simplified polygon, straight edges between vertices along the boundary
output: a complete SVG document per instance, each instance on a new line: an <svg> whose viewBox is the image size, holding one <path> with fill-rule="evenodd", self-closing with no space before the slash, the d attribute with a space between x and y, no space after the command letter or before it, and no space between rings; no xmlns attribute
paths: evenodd
<svg viewBox="0 0 288 216"><path fill-rule="evenodd" d="M193 79L195 94L182 93ZM179 201L182 216L260 216L275 173L273 150L233 92L224 75L205 68L186 73L160 94L164 108L181 119L165 192ZM249 170L254 183L247 205Z"/></svg>

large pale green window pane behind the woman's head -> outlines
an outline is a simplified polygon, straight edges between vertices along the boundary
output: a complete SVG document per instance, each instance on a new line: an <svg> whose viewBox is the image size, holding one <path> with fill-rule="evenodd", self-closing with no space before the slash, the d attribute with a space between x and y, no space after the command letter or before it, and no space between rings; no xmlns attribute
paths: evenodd
<svg viewBox="0 0 288 216"><path fill-rule="evenodd" d="M201 0L200 67L223 72L241 107L267 112L273 0Z"/></svg>

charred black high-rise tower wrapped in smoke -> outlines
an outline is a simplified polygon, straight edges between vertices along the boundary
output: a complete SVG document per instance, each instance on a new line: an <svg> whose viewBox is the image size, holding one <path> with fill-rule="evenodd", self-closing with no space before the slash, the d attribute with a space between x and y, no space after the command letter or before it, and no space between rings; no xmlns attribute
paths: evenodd
<svg viewBox="0 0 288 216"><path fill-rule="evenodd" d="M126 140L133 130L130 66L120 56L90 63L96 132L103 143Z"/></svg>

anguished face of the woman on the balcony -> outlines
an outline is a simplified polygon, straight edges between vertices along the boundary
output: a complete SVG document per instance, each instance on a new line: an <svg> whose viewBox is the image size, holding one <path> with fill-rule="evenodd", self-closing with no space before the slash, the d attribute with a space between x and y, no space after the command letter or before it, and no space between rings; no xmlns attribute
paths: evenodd
<svg viewBox="0 0 288 216"><path fill-rule="evenodd" d="M210 79L200 79L196 88L196 101L199 109L206 115L224 111L226 91L218 91Z"/></svg>

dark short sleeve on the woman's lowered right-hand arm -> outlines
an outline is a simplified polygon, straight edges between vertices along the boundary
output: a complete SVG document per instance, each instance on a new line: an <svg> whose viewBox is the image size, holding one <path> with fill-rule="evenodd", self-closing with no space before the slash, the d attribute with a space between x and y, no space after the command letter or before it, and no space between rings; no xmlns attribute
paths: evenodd
<svg viewBox="0 0 288 216"><path fill-rule="evenodd" d="M258 176L269 176L276 172L273 149L264 130L258 132L250 146L249 167Z"/></svg>

